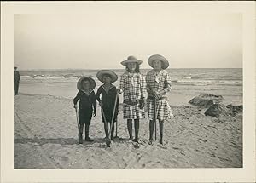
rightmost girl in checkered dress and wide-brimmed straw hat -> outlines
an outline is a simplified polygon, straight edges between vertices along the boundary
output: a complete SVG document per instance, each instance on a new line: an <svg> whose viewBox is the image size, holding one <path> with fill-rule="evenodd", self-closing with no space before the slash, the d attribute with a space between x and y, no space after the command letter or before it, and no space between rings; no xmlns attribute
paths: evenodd
<svg viewBox="0 0 256 183"><path fill-rule="evenodd" d="M169 66L165 57L154 54L148 59L153 70L146 76L148 92L149 144L153 143L154 125L160 124L160 144L163 145L164 121L173 117L171 106L167 101L167 92L171 91L171 77L165 70Z"/></svg>

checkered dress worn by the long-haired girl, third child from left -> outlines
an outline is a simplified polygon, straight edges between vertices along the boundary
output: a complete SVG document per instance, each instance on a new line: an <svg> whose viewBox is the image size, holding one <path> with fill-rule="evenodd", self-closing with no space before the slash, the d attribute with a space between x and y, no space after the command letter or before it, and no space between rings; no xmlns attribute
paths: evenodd
<svg viewBox="0 0 256 183"><path fill-rule="evenodd" d="M120 79L119 89L123 92L124 100L138 101L146 98L146 82L140 73L125 72ZM131 106L123 105L124 119L142 119L145 118L144 108L140 109L139 104Z"/></svg>

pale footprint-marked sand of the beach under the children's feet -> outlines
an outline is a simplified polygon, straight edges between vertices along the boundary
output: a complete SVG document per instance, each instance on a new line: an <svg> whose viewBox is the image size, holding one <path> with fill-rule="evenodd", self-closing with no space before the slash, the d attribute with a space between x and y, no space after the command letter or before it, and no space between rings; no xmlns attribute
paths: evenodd
<svg viewBox="0 0 256 183"><path fill-rule="evenodd" d="M170 101L172 104L172 102ZM49 95L15 96L15 169L241 168L242 115L206 117L192 106L172 106L165 123L165 146L149 146L148 118L140 123L140 147L128 141L122 111L118 136L105 145L97 107L93 143L78 145L73 100ZM159 128L157 128L159 129ZM159 131L158 131L159 132Z"/></svg>

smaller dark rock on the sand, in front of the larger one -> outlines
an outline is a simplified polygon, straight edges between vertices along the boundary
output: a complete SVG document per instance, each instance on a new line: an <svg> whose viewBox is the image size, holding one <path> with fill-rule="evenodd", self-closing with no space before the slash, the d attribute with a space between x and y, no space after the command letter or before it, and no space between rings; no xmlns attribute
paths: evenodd
<svg viewBox="0 0 256 183"><path fill-rule="evenodd" d="M213 104L205 112L206 116L219 117L220 115L230 115L230 109L223 104Z"/></svg>

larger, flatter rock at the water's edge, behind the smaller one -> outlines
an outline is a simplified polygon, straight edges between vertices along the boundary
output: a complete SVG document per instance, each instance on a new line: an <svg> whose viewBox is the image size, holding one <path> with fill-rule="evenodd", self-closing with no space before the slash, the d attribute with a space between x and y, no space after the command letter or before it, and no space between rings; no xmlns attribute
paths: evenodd
<svg viewBox="0 0 256 183"><path fill-rule="evenodd" d="M213 104L218 104L223 100L223 96L216 94L200 94L189 100L189 104L198 106L201 108L209 108Z"/></svg>

